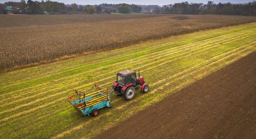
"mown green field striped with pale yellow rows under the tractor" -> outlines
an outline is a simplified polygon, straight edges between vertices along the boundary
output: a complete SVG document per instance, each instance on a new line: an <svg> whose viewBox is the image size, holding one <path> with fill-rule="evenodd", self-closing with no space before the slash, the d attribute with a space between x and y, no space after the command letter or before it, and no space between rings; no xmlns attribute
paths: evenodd
<svg viewBox="0 0 256 139"><path fill-rule="evenodd" d="M167 95L256 50L256 23L173 36L108 52L0 74L0 138L90 138ZM97 117L66 101L97 82L111 88L118 71L140 70L150 86Z"/></svg>

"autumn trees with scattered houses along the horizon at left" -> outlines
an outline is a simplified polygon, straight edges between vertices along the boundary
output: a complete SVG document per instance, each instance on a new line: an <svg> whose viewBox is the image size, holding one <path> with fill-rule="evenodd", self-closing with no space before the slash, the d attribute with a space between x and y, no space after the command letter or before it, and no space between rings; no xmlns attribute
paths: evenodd
<svg viewBox="0 0 256 139"><path fill-rule="evenodd" d="M64 4L54 1L32 1L21 0L20 2L5 2L0 3L0 14L7 14L7 6L13 7L14 14L44 14L44 12L58 14L110 14L119 11L120 13L141 12L141 7L136 4L106 4L100 5L78 5L76 3Z"/></svg>

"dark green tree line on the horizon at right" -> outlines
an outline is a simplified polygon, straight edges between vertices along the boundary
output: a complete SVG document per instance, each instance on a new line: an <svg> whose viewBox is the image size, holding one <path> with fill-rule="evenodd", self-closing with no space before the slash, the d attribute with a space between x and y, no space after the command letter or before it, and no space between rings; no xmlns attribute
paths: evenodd
<svg viewBox="0 0 256 139"><path fill-rule="evenodd" d="M208 1L207 4L203 3L188 3L179 2L174 4L164 5L162 8L156 7L154 10L157 14L215 14L215 15L256 15L256 1L248 3L232 4L227 3L214 3Z"/></svg>

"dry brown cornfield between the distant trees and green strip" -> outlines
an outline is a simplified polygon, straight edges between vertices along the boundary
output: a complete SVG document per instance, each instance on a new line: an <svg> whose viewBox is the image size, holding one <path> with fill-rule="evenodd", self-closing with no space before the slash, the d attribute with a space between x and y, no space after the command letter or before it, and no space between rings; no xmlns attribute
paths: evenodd
<svg viewBox="0 0 256 139"><path fill-rule="evenodd" d="M0 70L242 23L226 15L13 15L0 18Z"/></svg>

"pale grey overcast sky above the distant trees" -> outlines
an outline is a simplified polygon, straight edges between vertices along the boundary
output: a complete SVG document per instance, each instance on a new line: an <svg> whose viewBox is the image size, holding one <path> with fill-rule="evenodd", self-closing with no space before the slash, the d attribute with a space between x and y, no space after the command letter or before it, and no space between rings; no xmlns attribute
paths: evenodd
<svg viewBox="0 0 256 139"><path fill-rule="evenodd" d="M20 1L20 0L0 0L0 3L4 3L7 1ZM27 1L27 0L25 0ZM36 0L33 0L36 1ZM41 0L37 0L41 1ZM112 4L117 4L117 3L128 3L128 4L141 4L141 5L159 5L163 6L165 4L173 4L176 2L185 2L188 1L190 2L196 2L196 3L207 3L209 0L51 0L51 1L57 1L57 2L64 2L65 4L71 4L71 3L77 3L77 4L82 4L82 5L95 5L95 4L101 4L101 3L112 3ZM231 2L231 3L247 3L251 2L253 0L212 0L215 3L219 2Z"/></svg>

